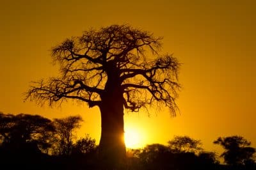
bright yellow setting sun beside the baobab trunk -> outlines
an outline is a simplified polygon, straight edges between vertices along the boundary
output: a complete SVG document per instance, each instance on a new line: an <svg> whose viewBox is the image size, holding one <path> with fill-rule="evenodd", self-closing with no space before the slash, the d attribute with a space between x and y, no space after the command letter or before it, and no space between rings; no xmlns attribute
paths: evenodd
<svg viewBox="0 0 256 170"><path fill-rule="evenodd" d="M126 129L124 139L127 148L141 148L141 134L138 130L133 128Z"/></svg>

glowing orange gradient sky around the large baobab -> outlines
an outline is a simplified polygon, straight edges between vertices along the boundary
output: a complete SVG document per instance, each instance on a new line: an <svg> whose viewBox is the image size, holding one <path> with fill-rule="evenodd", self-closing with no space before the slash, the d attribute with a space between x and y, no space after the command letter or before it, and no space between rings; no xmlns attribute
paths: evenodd
<svg viewBox="0 0 256 170"><path fill-rule="evenodd" d="M201 139L219 150L219 136L242 135L256 146L256 4L252 1L1 1L0 111L62 118L81 114L78 135L99 142L99 109L68 102L40 107L22 98L29 82L58 75L51 47L86 29L131 24L163 36L163 52L182 67L180 114L125 114L125 128L141 134L141 146L173 135Z"/></svg>

